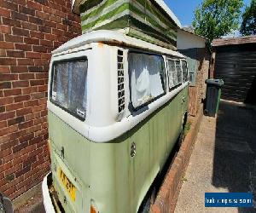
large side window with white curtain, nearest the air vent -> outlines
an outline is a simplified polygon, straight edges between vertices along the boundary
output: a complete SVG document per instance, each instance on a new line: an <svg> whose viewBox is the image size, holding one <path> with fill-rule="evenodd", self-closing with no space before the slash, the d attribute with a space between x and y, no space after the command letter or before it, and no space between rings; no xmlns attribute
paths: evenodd
<svg viewBox="0 0 256 213"><path fill-rule="evenodd" d="M137 108L165 93L165 66L160 55L129 53L131 103Z"/></svg>

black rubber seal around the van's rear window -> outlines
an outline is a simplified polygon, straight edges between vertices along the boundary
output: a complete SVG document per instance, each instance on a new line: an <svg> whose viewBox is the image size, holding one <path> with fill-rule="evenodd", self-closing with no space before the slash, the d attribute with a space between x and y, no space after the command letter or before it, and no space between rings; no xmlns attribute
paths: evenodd
<svg viewBox="0 0 256 213"><path fill-rule="evenodd" d="M69 59L63 59L63 60L53 60L52 62L52 66L51 66L51 79L50 79L50 85L49 85L49 101L54 104L56 107L60 107L62 110L64 110L65 112L71 114L73 117L75 118L78 118L80 121L85 121L86 119L86 112L87 110L85 111L85 116L84 118L81 118L77 113L75 112L72 112L70 110L68 110L67 108L65 107L62 107L60 104L58 104L56 101L54 101L52 99L52 90L53 90L53 82L54 82L54 74L55 74L55 64L57 63L60 63L60 62L73 62L73 61L77 61L77 60L87 60L87 71L86 71L86 77L88 77L88 63L89 63L89 60L88 60L88 57L83 55L83 56L78 56L78 57L73 57L73 58L69 58ZM87 108L87 101L86 101L86 108Z"/></svg>

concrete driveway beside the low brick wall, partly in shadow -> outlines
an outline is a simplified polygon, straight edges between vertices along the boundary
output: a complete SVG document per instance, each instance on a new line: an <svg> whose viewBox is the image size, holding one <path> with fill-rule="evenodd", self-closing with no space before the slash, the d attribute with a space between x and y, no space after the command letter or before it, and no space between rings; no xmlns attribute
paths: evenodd
<svg viewBox="0 0 256 213"><path fill-rule="evenodd" d="M204 207L205 193L252 191L256 198L256 111L222 101L218 118L202 119L175 212L256 212Z"/></svg>

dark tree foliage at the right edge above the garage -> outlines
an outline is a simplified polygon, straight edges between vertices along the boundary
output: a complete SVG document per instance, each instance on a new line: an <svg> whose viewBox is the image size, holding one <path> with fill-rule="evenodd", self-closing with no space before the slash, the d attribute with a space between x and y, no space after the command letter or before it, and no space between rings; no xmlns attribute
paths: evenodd
<svg viewBox="0 0 256 213"><path fill-rule="evenodd" d="M256 0L252 0L251 5L242 14L241 35L256 35Z"/></svg>

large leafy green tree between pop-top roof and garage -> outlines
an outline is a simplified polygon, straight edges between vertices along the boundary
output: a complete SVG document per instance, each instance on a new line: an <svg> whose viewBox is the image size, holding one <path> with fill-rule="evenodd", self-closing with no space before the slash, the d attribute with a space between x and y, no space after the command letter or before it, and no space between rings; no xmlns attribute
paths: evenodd
<svg viewBox="0 0 256 213"><path fill-rule="evenodd" d="M242 0L204 0L195 9L195 33L210 42L239 28Z"/></svg>

